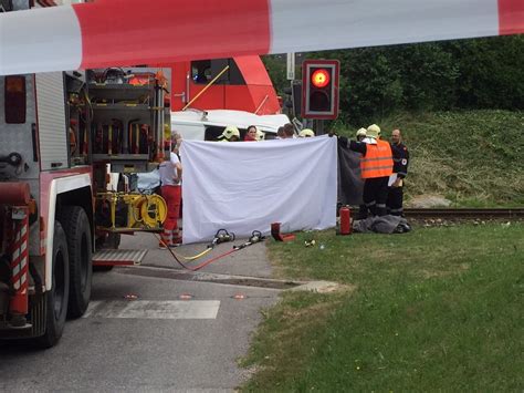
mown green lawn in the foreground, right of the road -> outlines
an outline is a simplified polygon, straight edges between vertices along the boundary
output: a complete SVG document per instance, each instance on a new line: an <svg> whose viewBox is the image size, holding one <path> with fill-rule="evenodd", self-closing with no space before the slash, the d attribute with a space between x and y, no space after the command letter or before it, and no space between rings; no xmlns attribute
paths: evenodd
<svg viewBox="0 0 524 393"><path fill-rule="evenodd" d="M301 234L270 257L280 277L345 287L265 311L244 390L524 389L524 224Z"/></svg>

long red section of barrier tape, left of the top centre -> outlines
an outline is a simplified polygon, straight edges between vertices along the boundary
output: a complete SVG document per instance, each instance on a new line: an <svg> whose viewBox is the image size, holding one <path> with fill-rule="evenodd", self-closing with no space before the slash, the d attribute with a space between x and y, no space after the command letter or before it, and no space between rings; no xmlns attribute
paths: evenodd
<svg viewBox="0 0 524 393"><path fill-rule="evenodd" d="M157 0L154 6L98 0L73 7L82 31L82 69L229 58L270 48L269 0Z"/></svg>

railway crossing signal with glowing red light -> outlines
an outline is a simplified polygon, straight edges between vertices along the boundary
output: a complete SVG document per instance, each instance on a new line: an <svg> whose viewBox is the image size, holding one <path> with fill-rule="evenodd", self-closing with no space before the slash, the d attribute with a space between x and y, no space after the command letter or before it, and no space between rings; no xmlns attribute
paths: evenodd
<svg viewBox="0 0 524 393"><path fill-rule="evenodd" d="M338 60L306 60L302 64L302 117L338 116Z"/></svg>

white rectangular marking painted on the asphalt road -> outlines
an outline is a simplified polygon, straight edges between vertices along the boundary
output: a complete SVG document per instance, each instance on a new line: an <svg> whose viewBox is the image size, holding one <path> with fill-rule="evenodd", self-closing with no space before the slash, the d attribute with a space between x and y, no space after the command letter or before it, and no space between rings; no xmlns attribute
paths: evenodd
<svg viewBox="0 0 524 393"><path fill-rule="evenodd" d="M219 300L92 301L83 318L217 319Z"/></svg>

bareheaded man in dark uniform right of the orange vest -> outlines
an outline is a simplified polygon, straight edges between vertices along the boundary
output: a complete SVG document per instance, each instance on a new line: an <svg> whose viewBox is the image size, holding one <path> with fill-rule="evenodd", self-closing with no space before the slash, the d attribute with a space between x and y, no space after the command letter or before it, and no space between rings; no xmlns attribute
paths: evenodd
<svg viewBox="0 0 524 393"><path fill-rule="evenodd" d="M404 179L408 175L409 152L402 143L400 130L391 133L391 152L394 173L389 179L387 207L392 216L404 216Z"/></svg>

